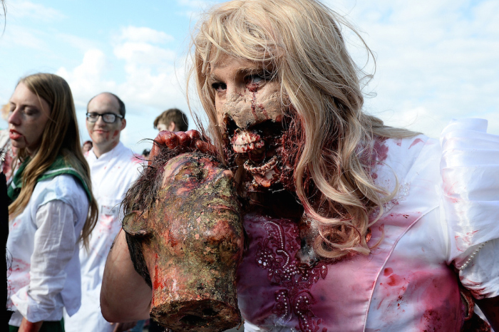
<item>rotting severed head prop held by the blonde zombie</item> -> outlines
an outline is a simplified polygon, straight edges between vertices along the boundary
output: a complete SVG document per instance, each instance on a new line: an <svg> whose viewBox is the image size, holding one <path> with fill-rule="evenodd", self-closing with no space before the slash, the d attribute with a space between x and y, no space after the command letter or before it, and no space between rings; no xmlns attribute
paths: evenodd
<svg viewBox="0 0 499 332"><path fill-rule="evenodd" d="M151 317L173 331L225 331L240 322L243 230L232 172L199 153L162 168L154 183L141 184L146 171L134 185L157 188L153 209L123 220L135 269L153 288Z"/></svg>

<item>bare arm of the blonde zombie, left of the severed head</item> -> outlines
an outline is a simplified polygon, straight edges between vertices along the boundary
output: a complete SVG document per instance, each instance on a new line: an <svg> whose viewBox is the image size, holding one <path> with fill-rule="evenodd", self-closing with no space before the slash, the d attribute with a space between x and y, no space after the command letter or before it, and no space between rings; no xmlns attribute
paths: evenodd
<svg viewBox="0 0 499 332"><path fill-rule="evenodd" d="M109 251L101 289L101 310L111 322L149 318L152 291L133 268L125 232L120 232Z"/></svg>

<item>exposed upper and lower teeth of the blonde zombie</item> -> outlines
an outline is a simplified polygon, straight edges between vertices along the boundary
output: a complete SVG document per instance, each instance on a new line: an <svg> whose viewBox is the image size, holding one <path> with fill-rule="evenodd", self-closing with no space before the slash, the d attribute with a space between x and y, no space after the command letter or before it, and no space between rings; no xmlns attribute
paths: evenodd
<svg viewBox="0 0 499 332"><path fill-rule="evenodd" d="M262 153L262 160L265 158L265 141L260 135L246 130L236 130L234 137L231 139L232 149L236 153L257 152ZM258 151L260 150L260 151ZM279 180L279 169L277 156L265 162L263 165L256 165L253 160L246 160L244 167L249 174L252 175L254 182L262 187L270 187L274 182Z"/></svg>

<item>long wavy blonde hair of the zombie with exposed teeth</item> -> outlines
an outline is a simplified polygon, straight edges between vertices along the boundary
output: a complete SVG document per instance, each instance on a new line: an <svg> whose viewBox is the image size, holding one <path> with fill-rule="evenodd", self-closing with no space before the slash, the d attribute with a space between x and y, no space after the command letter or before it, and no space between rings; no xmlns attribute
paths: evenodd
<svg viewBox="0 0 499 332"><path fill-rule="evenodd" d="M230 55L274 68L282 104L302 142L294 160L294 187L305 212L319 224L314 249L331 259L352 251L368 254L368 229L395 192L374 184L372 160L366 156L371 156L376 138L416 133L387 127L362 111L361 83L371 76L352 60L341 28L351 29L372 56L359 33L314 0L229 1L215 6L200 22L193 39L191 75L219 150L222 133L217 127L215 94L207 82L212 64ZM307 179L319 192L314 202L305 190Z"/></svg>

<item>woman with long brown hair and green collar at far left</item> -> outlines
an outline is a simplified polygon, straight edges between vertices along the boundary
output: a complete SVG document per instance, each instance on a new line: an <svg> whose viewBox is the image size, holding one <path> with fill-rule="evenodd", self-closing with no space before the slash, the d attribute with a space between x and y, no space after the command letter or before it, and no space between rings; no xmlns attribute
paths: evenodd
<svg viewBox="0 0 499 332"><path fill-rule="evenodd" d="M63 331L63 308L80 306L78 241L97 217L73 96L63 78L21 78L9 136L19 167L8 187L10 331Z"/></svg>

